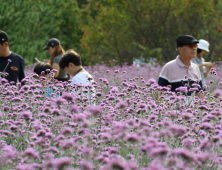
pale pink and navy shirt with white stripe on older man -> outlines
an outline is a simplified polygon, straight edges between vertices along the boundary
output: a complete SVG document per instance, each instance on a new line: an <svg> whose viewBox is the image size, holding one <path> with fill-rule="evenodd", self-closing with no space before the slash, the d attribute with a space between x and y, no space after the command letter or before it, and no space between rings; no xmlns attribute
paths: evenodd
<svg viewBox="0 0 222 170"><path fill-rule="evenodd" d="M177 88L185 86L186 84L188 85L187 88L189 89L194 83L199 84L202 89L199 67L192 62L190 62L190 66L187 67L179 59L179 56L177 56L175 60L172 60L164 65L158 80L158 84L160 86L170 85L171 91L173 92L175 92ZM188 92L187 94L191 95L191 92Z"/></svg>

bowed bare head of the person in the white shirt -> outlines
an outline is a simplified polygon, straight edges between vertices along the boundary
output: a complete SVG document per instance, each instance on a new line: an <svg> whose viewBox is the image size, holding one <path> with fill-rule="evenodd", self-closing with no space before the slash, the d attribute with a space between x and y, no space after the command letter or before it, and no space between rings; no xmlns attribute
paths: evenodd
<svg viewBox="0 0 222 170"><path fill-rule="evenodd" d="M74 76L81 66L81 56L74 50L67 51L59 61L59 67L71 76Z"/></svg>

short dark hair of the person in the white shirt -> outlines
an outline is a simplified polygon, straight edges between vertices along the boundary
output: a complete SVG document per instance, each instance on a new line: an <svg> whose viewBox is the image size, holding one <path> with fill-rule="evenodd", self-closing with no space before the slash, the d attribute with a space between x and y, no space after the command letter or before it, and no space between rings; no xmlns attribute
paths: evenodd
<svg viewBox="0 0 222 170"><path fill-rule="evenodd" d="M74 50L67 51L59 61L59 67L64 69L69 66L69 63L73 63L76 66L82 65L81 56Z"/></svg>

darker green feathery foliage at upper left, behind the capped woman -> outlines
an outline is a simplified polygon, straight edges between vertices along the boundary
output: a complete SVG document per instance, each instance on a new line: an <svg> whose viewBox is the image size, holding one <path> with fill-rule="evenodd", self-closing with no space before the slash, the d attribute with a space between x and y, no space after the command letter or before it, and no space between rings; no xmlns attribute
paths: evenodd
<svg viewBox="0 0 222 170"><path fill-rule="evenodd" d="M42 50L48 39L58 38L65 49L79 46L78 4L72 0L7 0L0 5L0 29L8 33L10 50L26 64L48 59Z"/></svg>

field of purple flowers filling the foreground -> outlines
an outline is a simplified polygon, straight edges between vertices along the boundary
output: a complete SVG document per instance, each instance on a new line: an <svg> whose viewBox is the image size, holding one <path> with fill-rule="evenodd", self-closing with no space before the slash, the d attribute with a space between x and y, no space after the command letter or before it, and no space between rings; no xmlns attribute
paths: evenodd
<svg viewBox="0 0 222 170"><path fill-rule="evenodd" d="M32 68L24 86L0 79L0 169L222 169L220 66L191 104L157 86L159 65L85 67L95 79L92 104L68 82L43 87Z"/></svg>

